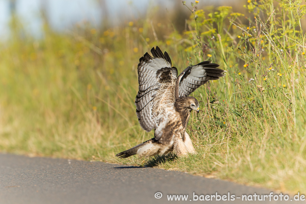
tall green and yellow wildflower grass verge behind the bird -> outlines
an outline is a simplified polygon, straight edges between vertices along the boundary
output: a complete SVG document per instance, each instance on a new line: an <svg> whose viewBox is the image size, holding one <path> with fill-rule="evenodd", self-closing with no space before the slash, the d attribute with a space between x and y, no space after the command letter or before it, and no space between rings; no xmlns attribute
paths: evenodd
<svg viewBox="0 0 306 204"><path fill-rule="evenodd" d="M251 0L245 16L192 5L184 33L154 19L108 30L86 25L70 34L46 24L37 40L22 37L13 19L13 35L0 46L0 150L305 193L306 10L300 4ZM138 124L134 98L138 59L157 45L179 71L211 60L226 76L194 92L201 111L192 113L187 131L198 154L118 159L115 154L153 137Z"/></svg>

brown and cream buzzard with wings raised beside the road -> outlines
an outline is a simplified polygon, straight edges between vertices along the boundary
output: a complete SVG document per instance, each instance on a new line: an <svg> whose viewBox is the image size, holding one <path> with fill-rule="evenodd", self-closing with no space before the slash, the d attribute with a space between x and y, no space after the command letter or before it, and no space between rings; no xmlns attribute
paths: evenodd
<svg viewBox="0 0 306 204"><path fill-rule="evenodd" d="M224 76L225 71L215 63L203 61L177 76L168 53L163 54L158 46L151 53L153 57L146 53L139 59L135 105L140 126L147 132L154 129L154 138L116 156L127 158L137 154L146 158L173 150L177 156L195 154L186 127L191 111L199 113L199 102L189 95L208 80Z"/></svg>

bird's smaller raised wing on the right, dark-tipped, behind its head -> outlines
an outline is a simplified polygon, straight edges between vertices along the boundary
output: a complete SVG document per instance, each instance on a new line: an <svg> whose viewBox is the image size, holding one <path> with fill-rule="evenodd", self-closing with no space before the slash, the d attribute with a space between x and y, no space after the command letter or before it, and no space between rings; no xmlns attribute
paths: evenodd
<svg viewBox="0 0 306 204"><path fill-rule="evenodd" d="M215 63L210 63L210 61L203 61L187 67L177 77L179 80L178 97L186 97L208 80L217 80L224 76L222 73L225 71L218 69L218 66Z"/></svg>

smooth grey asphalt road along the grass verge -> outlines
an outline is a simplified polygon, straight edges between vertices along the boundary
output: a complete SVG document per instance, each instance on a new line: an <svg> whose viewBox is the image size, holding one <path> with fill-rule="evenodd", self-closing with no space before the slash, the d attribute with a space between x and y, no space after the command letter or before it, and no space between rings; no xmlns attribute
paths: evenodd
<svg viewBox="0 0 306 204"><path fill-rule="evenodd" d="M158 192L162 193L159 199L155 198ZM254 201L254 196L253 201L242 201L242 195L268 195L270 192L267 189L149 167L0 154L1 204L279 203L279 196L278 201L273 201L272 197L272 202L269 202L269 197L265 198L266 201L258 201L258 198ZM213 201L194 201L197 197L193 197L193 193L198 196L216 193L227 196L230 193L230 196L235 196L235 200L216 201L213 197ZM188 195L188 198L187 201L175 201L175 198L168 201L167 195ZM274 192L274 195L278 194ZM291 199L293 201L290 202ZM296 202L289 195L289 200L285 202L306 201Z"/></svg>

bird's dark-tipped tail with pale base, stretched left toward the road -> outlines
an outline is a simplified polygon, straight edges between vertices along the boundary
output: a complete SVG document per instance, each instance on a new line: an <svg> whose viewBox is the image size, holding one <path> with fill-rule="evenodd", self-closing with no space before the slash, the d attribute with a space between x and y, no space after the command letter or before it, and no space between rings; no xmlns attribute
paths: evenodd
<svg viewBox="0 0 306 204"><path fill-rule="evenodd" d="M152 148L150 148L152 145L154 146L154 144L157 144L157 140L155 138L152 138L152 139L149 139L143 143L140 143L139 145L136 145L135 147L132 147L131 149L128 149L128 150L125 150L123 152L120 152L118 154L116 154L116 157L119 157L119 158L128 158L132 155L135 155L135 154L138 154L138 156L142 157L147 157L146 153L149 153L149 154L153 154L155 155L157 152L151 152L150 153L150 150ZM149 148L146 148L146 146L150 146ZM148 149L147 151L146 150L142 150L142 147L144 147L145 149ZM141 148L141 149L140 149ZM142 150L142 151L138 151L138 150ZM148 156L151 156L151 155L148 155Z"/></svg>

